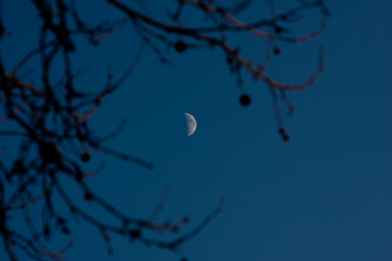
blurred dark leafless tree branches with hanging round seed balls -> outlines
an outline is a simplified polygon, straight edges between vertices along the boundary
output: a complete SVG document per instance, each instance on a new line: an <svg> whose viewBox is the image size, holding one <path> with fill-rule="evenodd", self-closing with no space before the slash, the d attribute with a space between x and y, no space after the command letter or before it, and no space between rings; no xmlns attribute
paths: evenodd
<svg viewBox="0 0 392 261"><path fill-rule="evenodd" d="M271 16L260 18L254 23L245 23L236 18L249 8L252 0L233 1L230 4L226 1L224 4L219 4L214 0L177 0L175 1L176 9L167 13L171 23L155 20L146 15L148 12L137 11L127 6L125 0L100 0L105 2L108 8L117 8L125 18L114 22L104 21L94 26L84 22L83 14L77 9L77 0L30 1L38 11L41 21L39 43L35 48L33 46L32 50L26 53L12 70L7 68L0 56L0 124L8 121L19 126L18 130L4 130L1 127L0 137L12 136L20 141L19 145L16 145L19 146L18 153L12 162L4 162L1 159L3 149L0 150L0 236L3 249L12 261L18 260L18 251L25 252L34 260L58 260L63 252L71 247L72 240L60 250L49 251L44 247L43 239L48 239L55 233L69 235L72 230L70 219L65 214L60 214L53 203L54 195L64 201L72 215L86 220L100 231L109 254L113 252L111 234L126 236L131 239L131 242L140 241L146 245L178 251L181 245L195 237L221 212L223 199L216 209L201 220L191 232L184 234L181 233L181 228L187 225L189 217L172 223L155 221L165 204L167 191L163 193L151 215L146 219L139 219L114 208L87 185L85 179L101 170L101 167L98 167L96 172L88 173L83 169L80 161L88 162L92 152L101 152L141 167L153 168L153 164L141 158L105 146L104 143L116 136L124 122L107 137L96 137L92 134L88 121L98 110L102 99L122 85L142 59L146 48L152 50L166 65L170 65L171 61L162 51L163 48L172 48L183 55L186 55L189 49L220 49L224 58L222 59L223 65L228 66L228 70L236 75L242 94L240 95L242 105L246 106L251 101L243 88L242 73L244 71L250 73L255 79L263 81L270 88L279 133L284 141L288 141L289 136L280 117L278 98L282 98L289 112L293 113L294 107L286 92L307 88L315 82L323 70L323 47L320 47L318 67L308 80L301 84L285 84L271 78L266 73L272 57L281 52L276 43L303 43L318 37L323 32L326 27L325 19L329 16L323 0L298 0L294 2L291 10L279 14L275 13L273 1L268 0ZM148 6L148 1L136 1L142 7ZM0 1L0 7L2 2ZM94 5L94 3L91 4ZM183 24L182 16L186 8L197 11L201 17L205 18L206 25L195 27L192 24ZM301 16L310 9L319 10L318 29L306 35L292 36L290 34L291 24L300 20ZM147 10L147 8L142 8L142 10ZM25 22L28 23L28 21ZM75 79L85 71L75 70L72 66L71 53L78 48L74 37L83 35L92 46L97 46L125 26L132 27L133 32L142 40L140 48L135 50L134 61L117 79L108 65L106 82L100 91L97 90L97 93L87 94L78 91ZM262 61L256 63L242 56L240 48L232 46L230 41L226 40L227 35L240 32L248 33L256 40L264 39L267 42L268 48ZM12 37L12 32L7 30L7 21L3 21L0 17L0 41L7 41L9 37ZM0 49L0 55L4 51L7 50ZM22 71L36 56L41 61L40 80L36 84L31 84L26 81L29 72L22 73ZM52 82L50 75L55 70L52 66L55 57L62 60L65 70L63 77L57 82ZM65 147L71 149L73 154L63 153ZM119 220L121 225L103 223L99 217L78 207L70 197L72 191L64 189L59 181L60 175L70 177L83 191L86 201L98 204ZM40 224L32 221L29 211L30 207L35 204L42 204ZM16 212L23 215L30 230L28 235L21 233L18 230L18 224L10 218ZM147 230L159 233L176 232L179 236L165 241L159 239L161 234L157 234L154 238L145 236Z"/></svg>

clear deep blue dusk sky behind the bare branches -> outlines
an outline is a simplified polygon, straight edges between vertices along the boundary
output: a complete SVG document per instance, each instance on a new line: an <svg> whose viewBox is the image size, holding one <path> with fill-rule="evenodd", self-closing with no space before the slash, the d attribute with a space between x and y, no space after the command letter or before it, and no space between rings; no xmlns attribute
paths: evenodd
<svg viewBox="0 0 392 261"><path fill-rule="evenodd" d="M165 10L175 10L173 1L167 0L144 1L145 9L135 1L123 2L162 21ZM77 4L91 24L124 17L104 1ZM278 13L296 6L294 0L275 4ZM304 44L277 42L282 55L272 58L267 71L282 82L303 82L317 69L319 45L325 46L325 70L316 83L288 93L294 115L288 117L280 103L289 142L277 133L269 88L254 82L246 72L244 88L252 102L248 107L240 105L242 92L221 50L176 53L164 48L164 54L175 62L167 66L147 48L121 88L105 98L89 123L96 135L105 136L126 118L123 130L106 145L152 162L155 168L148 170L95 153L86 168L93 170L104 160L105 169L88 184L115 207L138 218L147 218L162 191L169 188L157 221L189 215L191 222L179 235L212 212L221 197L226 199L223 210L179 254L113 235L114 256L108 257L99 231L83 220L73 222L74 245L64 258L391 260L392 2L326 0L326 4L332 16L325 32ZM256 0L242 18L250 22L261 15L268 17L267 7L266 1ZM4 0L1 16L12 32L0 41L1 58L10 71L37 46L39 21L25 0ZM290 25L293 34L317 29L317 17L310 12L303 21ZM183 24L201 21L193 12L183 18ZM228 41L243 43L244 56L251 59L264 55L265 41L245 33L229 35ZM135 58L140 40L128 23L99 47L91 47L83 37L76 37L75 43L73 67L91 68L76 82L82 90L91 91L104 86L107 63L114 76L120 77ZM26 68L37 67L38 61ZM61 73L54 69L53 78ZM33 73L29 80L38 83L39 75ZM183 113L197 121L189 137ZM13 127L8 121L0 124L1 130ZM2 161L11 161L12 139L0 137L0 146L5 148ZM75 201L84 210L112 220L94 203L84 202L81 191L69 180L63 182L75 191ZM151 234L161 239L175 236ZM48 244L55 248L67 240L58 236ZM23 253L20 257L28 260ZM7 258L0 251L3 260Z"/></svg>

